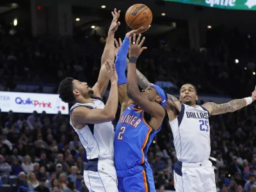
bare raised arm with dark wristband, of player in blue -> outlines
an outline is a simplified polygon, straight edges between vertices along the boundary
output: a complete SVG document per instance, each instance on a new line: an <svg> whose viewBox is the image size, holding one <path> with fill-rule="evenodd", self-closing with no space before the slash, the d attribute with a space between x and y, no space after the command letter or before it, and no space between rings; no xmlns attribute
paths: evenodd
<svg viewBox="0 0 256 192"><path fill-rule="evenodd" d="M130 38L130 49L129 49L129 67L127 74L127 95L130 99L134 100L140 108L142 108L145 112L149 113L152 118L156 119L156 124L151 125L154 129L158 129L159 125L163 122L163 118L165 115L165 111L163 107L156 102L150 102L150 100L145 97L145 95L141 94L137 79L136 79L136 60L140 55L141 45L143 44L145 37L140 42L141 35L138 36L136 40L136 36L133 36L133 42L131 43Z"/></svg>

